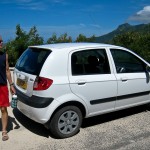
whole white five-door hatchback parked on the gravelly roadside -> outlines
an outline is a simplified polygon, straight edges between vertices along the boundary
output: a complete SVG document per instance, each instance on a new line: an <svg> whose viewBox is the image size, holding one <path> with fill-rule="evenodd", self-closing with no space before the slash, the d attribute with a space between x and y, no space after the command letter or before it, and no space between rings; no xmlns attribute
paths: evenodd
<svg viewBox="0 0 150 150"><path fill-rule="evenodd" d="M17 107L56 138L71 137L83 118L150 103L149 68L120 46L29 46L14 70Z"/></svg>

